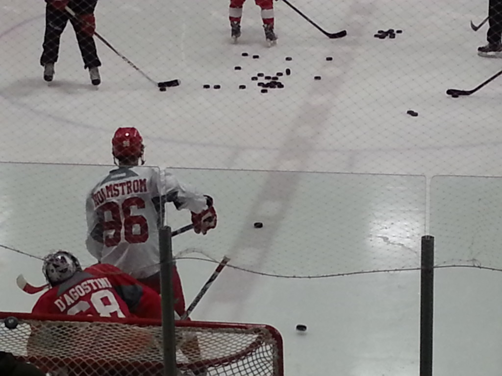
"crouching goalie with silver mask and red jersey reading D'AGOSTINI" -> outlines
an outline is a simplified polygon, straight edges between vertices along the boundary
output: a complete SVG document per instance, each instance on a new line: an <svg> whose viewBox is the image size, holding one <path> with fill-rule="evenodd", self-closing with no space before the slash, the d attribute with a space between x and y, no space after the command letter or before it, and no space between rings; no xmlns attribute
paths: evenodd
<svg viewBox="0 0 502 376"><path fill-rule="evenodd" d="M112 265L96 264L82 270L80 262L74 255L59 250L44 258L42 272L51 288L33 307L32 313L34 314L139 317L161 320L160 295ZM159 338L156 338L153 332L137 326L124 327L119 332L113 330L106 332L106 328L100 327L87 330L95 330L96 333L91 335L88 331L85 338L79 337L77 340L71 335L60 338L57 332L51 333L50 327L33 326L28 350L32 355L46 355L45 352L49 349L47 346L52 343L48 337L52 335L57 339L54 341L55 346L67 345L75 353L91 349L100 351L102 346L108 346L110 338L120 344L124 356L128 354L134 356L134 354L149 351L157 354L161 346ZM78 332L75 334L78 335ZM196 337L180 336L177 337L177 342L192 362L200 361L200 349ZM120 366L112 370L115 373L110 370L110 374L129 374L127 369L121 369ZM204 375L206 368L201 365L193 373ZM0 374L3 375L3 373Z"/></svg>

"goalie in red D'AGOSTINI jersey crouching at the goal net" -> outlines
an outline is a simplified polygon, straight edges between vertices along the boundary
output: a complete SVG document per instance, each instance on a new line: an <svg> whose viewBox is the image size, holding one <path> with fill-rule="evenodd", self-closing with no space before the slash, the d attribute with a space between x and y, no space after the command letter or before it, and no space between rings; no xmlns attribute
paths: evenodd
<svg viewBox="0 0 502 376"><path fill-rule="evenodd" d="M109 318L139 317L160 320L162 315L160 295L141 282L109 264L96 264L82 270L78 259L68 251L59 250L44 258L42 272L51 288L33 307L34 314L64 314L100 316ZM179 316L177 316L179 318ZM117 326L110 325L121 325ZM70 334L70 335L68 335ZM200 349L197 338L177 335L177 347L193 363L200 363ZM61 349L64 349L62 351ZM73 325L71 333L60 323L32 326L28 352L31 356L43 358L67 357L91 359L90 362L106 356L113 356L118 364L159 359L162 365L162 344L160 326L144 328L136 325L106 324ZM76 363L56 363L57 375L73 376L69 369L88 369L86 375L122 374L132 376L127 366L114 365L113 369L96 369L87 360ZM54 371L55 369L50 369ZM162 366L153 367L152 376L162 374ZM200 364L194 374L205 374Z"/></svg>

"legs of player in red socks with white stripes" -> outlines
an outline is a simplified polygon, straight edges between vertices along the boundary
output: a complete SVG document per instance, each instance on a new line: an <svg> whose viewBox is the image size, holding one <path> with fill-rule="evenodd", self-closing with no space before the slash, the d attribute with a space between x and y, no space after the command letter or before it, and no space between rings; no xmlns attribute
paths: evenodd
<svg viewBox="0 0 502 376"><path fill-rule="evenodd" d="M245 0L230 0L229 19L233 43L237 43L237 38L240 37L240 19L242 18L244 2ZM265 39L269 46L273 46L277 43L277 36L274 33L273 0L255 0L255 3L262 9Z"/></svg>

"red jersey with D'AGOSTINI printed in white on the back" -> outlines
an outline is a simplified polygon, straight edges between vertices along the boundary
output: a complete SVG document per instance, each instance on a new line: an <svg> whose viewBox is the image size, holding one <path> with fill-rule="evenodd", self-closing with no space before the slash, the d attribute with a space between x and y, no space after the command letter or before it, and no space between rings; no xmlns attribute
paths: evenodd
<svg viewBox="0 0 502 376"><path fill-rule="evenodd" d="M109 264L92 265L45 292L36 314L161 318L160 296Z"/></svg>

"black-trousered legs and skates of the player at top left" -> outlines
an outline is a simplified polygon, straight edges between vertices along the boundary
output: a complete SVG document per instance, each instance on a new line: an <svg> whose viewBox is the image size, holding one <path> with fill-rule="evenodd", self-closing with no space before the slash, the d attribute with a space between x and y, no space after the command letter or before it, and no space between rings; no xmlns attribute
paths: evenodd
<svg viewBox="0 0 502 376"><path fill-rule="evenodd" d="M101 77L98 67L101 66L101 62L93 39L96 28L94 9L97 0L46 0L46 3L45 35L40 58L40 64L44 67L44 80L52 81L54 78L54 64L59 56L61 33L70 20L84 61L84 69L89 70L92 85L99 85ZM76 13L77 19L65 10L67 6Z"/></svg>

